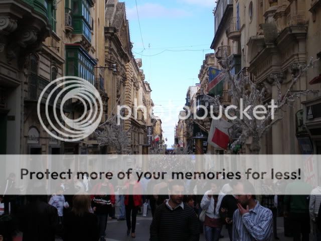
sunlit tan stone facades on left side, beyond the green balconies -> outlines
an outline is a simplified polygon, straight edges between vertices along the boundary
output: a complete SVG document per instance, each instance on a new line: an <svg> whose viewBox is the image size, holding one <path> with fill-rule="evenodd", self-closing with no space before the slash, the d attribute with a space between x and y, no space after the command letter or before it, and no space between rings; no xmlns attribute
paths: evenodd
<svg viewBox="0 0 321 241"><path fill-rule="evenodd" d="M152 107L151 88L145 82L141 59L135 59L132 54L132 44L129 36L129 25L126 18L125 4L117 0L106 1L105 11L105 78L108 92L108 118L117 114L117 105L129 106L131 116L122 125L128 132L131 154L142 154L146 145L146 126L151 125L149 109ZM144 108L136 108L136 106ZM135 115L136 113L136 115ZM128 111L124 110L124 115ZM107 119L108 120L108 119ZM107 148L106 153L113 150Z"/></svg>

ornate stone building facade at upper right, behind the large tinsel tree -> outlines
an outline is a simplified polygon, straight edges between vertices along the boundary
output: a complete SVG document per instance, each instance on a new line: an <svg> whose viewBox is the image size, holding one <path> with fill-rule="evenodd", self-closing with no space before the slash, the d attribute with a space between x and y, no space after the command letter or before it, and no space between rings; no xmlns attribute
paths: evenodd
<svg viewBox="0 0 321 241"><path fill-rule="evenodd" d="M227 2L226 11L224 3ZM217 62L225 47L234 65L234 74L241 71L255 84L266 88L264 101L276 99L277 88L271 74L282 80L282 90L288 88L296 64L307 64L320 57L318 30L321 18L320 1L239 0L218 1L214 11L216 37L212 48ZM223 11L219 11L222 8ZM221 17L221 13L223 17ZM218 19L218 21L217 21ZM220 21L226 20L226 21ZM220 31L220 32L219 32ZM227 39L226 39L227 38ZM292 91L320 89L321 62L303 74ZM307 154L320 152L320 129L317 105L320 94L301 96L286 107L283 119L261 140L262 154ZM310 110L311 109L311 110ZM313 114L314 112L314 114ZM310 113L310 114L309 114ZM246 141L248 152L251 140Z"/></svg>

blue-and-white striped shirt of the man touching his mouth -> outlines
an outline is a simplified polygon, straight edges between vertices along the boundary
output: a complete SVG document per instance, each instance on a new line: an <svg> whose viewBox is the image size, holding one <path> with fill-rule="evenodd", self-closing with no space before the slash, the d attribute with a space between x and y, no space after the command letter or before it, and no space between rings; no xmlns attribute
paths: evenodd
<svg viewBox="0 0 321 241"><path fill-rule="evenodd" d="M269 241L272 237L272 211L257 204L249 213L233 214L233 241Z"/></svg>

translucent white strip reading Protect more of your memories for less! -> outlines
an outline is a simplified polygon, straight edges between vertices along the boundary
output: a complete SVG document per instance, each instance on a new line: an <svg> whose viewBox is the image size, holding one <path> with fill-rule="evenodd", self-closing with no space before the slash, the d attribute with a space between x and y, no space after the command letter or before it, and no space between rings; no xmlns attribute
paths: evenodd
<svg viewBox="0 0 321 241"><path fill-rule="evenodd" d="M321 156L1 155L0 165L10 183L0 195L168 195L174 184L184 185L185 195L308 195Z"/></svg>

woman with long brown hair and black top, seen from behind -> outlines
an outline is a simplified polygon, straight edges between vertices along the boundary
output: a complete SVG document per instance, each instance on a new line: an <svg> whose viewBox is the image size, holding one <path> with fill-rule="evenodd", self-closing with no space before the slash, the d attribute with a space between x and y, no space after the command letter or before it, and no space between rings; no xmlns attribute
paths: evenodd
<svg viewBox="0 0 321 241"><path fill-rule="evenodd" d="M64 218L64 241L98 241L97 217L90 213L91 199L85 193L73 197L71 212Z"/></svg>

